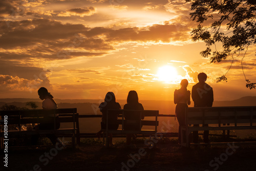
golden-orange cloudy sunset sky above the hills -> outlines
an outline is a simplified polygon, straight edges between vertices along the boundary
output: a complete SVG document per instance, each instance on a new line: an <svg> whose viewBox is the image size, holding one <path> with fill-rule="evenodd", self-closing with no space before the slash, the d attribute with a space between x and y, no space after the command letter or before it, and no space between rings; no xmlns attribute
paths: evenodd
<svg viewBox="0 0 256 171"><path fill-rule="evenodd" d="M38 98L45 87L59 99L103 99L109 91L126 99L135 90L141 100L173 100L180 81L191 90L200 72L215 100L256 96L245 87L244 52L228 81L216 83L232 57L210 63L200 55L206 46L191 40L198 23L190 12L182 0L2 0L0 98ZM255 61L253 46L243 59L251 82Z"/></svg>

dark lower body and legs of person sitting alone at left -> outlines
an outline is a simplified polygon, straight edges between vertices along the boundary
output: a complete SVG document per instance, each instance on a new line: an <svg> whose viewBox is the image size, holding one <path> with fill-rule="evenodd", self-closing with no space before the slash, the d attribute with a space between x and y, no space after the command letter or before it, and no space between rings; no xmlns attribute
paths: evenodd
<svg viewBox="0 0 256 171"><path fill-rule="evenodd" d="M59 129L60 123L59 118L55 117L55 129ZM45 117L41 123L38 125L39 130L54 130L54 117ZM49 138L53 145L56 144L56 139L58 138L55 134L47 134L47 138ZM32 135L31 144L36 145L38 141L39 135Z"/></svg>

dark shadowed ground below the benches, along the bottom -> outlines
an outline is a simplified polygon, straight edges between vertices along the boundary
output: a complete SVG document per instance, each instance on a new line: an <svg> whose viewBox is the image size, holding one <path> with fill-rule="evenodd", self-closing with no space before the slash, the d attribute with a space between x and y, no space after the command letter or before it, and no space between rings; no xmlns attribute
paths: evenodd
<svg viewBox="0 0 256 171"><path fill-rule="evenodd" d="M155 143L155 147L82 143L56 149L9 149L8 167L1 170L255 170L256 144L223 144L179 147L177 141ZM150 149L151 148L151 149ZM1 153L3 158L3 153Z"/></svg>

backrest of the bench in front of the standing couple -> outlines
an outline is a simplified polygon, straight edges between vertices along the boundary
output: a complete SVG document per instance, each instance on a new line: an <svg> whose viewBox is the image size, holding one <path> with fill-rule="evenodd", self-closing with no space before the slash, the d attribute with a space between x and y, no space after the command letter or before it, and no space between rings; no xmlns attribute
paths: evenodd
<svg viewBox="0 0 256 171"><path fill-rule="evenodd" d="M256 125L256 106L187 108L186 124Z"/></svg>

